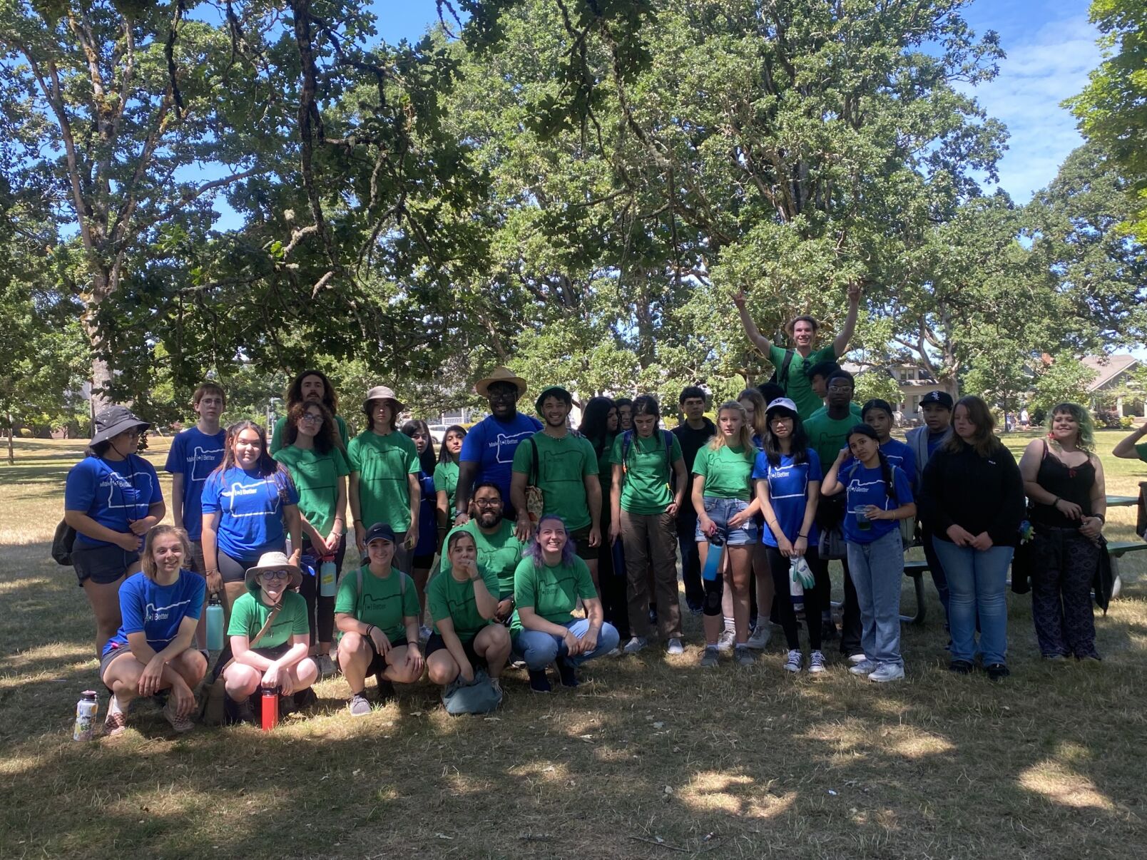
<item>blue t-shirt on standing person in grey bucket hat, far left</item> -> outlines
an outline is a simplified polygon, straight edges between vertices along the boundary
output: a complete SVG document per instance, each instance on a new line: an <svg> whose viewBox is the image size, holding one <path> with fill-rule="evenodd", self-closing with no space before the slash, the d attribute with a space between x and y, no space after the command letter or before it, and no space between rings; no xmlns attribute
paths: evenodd
<svg viewBox="0 0 1147 860"><path fill-rule="evenodd" d="M147 516L149 507L163 501L155 467L136 454L125 460L86 456L68 472L64 484L64 510L87 514L112 531L132 530L131 524ZM76 533L76 542L87 547L109 547L106 540Z"/></svg>

